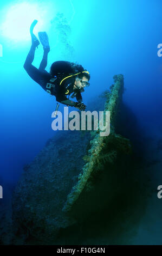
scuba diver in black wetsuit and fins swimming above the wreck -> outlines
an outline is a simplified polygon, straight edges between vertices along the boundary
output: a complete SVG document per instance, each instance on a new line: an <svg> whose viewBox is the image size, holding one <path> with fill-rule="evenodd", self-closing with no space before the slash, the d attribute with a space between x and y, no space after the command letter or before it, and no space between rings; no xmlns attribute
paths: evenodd
<svg viewBox="0 0 162 256"><path fill-rule="evenodd" d="M84 88L89 86L89 72L83 69L81 65L77 65L73 62L57 61L51 65L50 73L48 73L45 68L47 66L50 46L46 32L38 32L44 50L40 67L37 69L32 65L36 47L40 45L40 42L33 33L36 23L37 20L34 20L30 26L31 48L25 60L24 69L47 93L54 95L56 101L85 111L86 105L82 102L81 92L84 92ZM72 96L70 96L70 94L72 94ZM70 100L69 96L72 97L72 99L76 97L77 102Z"/></svg>

